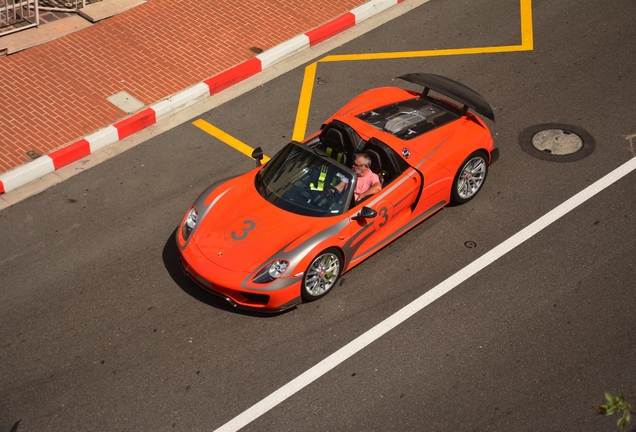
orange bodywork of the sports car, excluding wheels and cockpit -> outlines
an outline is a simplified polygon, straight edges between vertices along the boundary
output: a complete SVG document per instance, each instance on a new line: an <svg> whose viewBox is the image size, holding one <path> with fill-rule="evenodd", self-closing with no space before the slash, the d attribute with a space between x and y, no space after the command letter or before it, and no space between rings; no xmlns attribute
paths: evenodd
<svg viewBox="0 0 636 432"><path fill-rule="evenodd" d="M397 87L369 90L336 112L320 132L303 144L293 144L324 147L325 130L337 129L347 141L339 152L345 161L352 161L359 151L380 154L378 165L384 165L380 173L387 181L379 193L317 217L280 208L276 205L280 197L268 200L259 193L261 171L267 165L216 183L196 200L177 230L184 271L234 306L285 310L302 302L305 272L321 251L340 252L340 275L450 203L467 157L483 154L488 164L497 157L488 127L472 109L494 116L483 99L459 83L428 74L409 77L405 79L428 87L421 94ZM460 103L432 97L429 89L450 92ZM408 111L411 108L403 108L405 104L416 108ZM435 116L441 119L439 124L431 120ZM374 123L376 117L386 123ZM294 150L298 149L281 152ZM328 157L348 173L335 154ZM367 217L362 217L363 209ZM282 274L267 283L255 282L263 268L279 260L287 263Z"/></svg>

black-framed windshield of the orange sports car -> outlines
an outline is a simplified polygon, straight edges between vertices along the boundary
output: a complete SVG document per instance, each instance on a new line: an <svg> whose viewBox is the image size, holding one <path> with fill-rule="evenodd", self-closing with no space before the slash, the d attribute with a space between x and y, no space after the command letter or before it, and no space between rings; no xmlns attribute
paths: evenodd
<svg viewBox="0 0 636 432"><path fill-rule="evenodd" d="M297 143L283 148L256 176L256 189L263 198L304 216L342 214L354 187L351 170L326 153Z"/></svg>

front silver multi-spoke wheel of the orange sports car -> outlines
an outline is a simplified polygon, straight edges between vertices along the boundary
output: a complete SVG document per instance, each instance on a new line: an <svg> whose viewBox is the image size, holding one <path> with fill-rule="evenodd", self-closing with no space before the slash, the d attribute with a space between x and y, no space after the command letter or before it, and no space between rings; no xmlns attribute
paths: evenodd
<svg viewBox="0 0 636 432"><path fill-rule="evenodd" d="M338 249L330 248L320 253L307 267L301 296L304 301L318 300L327 295L340 276L342 254Z"/></svg>

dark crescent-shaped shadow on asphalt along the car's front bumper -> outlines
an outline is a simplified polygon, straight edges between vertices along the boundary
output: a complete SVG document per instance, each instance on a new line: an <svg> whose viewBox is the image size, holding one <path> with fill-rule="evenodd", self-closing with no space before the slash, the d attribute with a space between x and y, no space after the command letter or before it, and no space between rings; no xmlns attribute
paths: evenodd
<svg viewBox="0 0 636 432"><path fill-rule="evenodd" d="M178 258L179 252L177 250L177 244L175 241L175 235L177 233L178 228L179 227L175 228L174 231L172 231L172 233L166 240L166 244L163 247L163 252L161 254L161 257L163 259L163 264L166 267L166 270L168 271L168 274L170 275L174 283L176 283L177 286L181 288L183 292L193 297L197 301L200 301L201 303L205 303L206 305L211 306L215 309L219 309L225 312L231 312L231 313L235 313L239 315L256 317L256 318L274 318L274 317L284 315L288 313L289 311L296 309L295 307L293 307L286 311L274 312L274 313L263 313L258 311L239 309L232 306L227 301L199 287L181 270L181 266L179 264L179 258Z"/></svg>

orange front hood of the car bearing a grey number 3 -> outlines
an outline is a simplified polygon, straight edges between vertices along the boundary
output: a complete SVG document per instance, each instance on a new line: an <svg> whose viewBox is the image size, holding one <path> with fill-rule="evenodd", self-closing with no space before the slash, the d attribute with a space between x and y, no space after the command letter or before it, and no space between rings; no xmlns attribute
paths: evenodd
<svg viewBox="0 0 636 432"><path fill-rule="evenodd" d="M193 240L207 259L232 271L260 270L318 224L316 218L294 215L267 202L253 181L229 182L205 202L209 204Z"/></svg>

